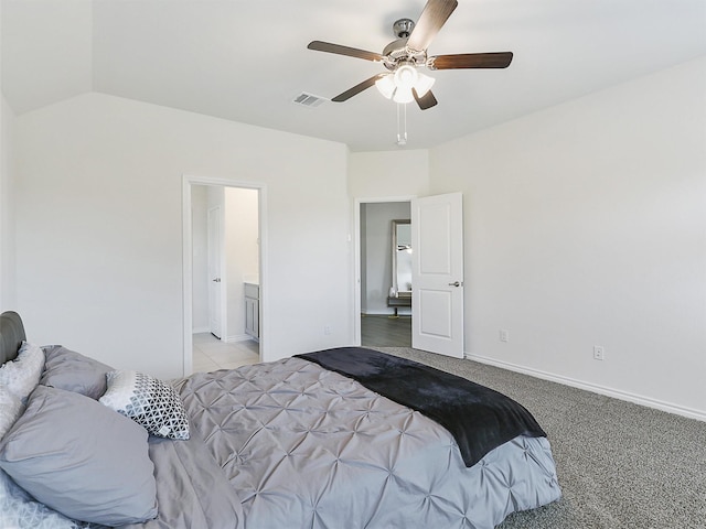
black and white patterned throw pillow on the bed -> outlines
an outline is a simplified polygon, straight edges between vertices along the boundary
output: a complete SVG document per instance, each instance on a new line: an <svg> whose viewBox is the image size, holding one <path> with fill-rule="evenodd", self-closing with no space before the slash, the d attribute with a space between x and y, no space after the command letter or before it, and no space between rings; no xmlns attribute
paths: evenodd
<svg viewBox="0 0 706 529"><path fill-rule="evenodd" d="M167 382L139 371L106 375L108 389L100 402L129 417L160 438L189 439L189 418L179 395Z"/></svg>

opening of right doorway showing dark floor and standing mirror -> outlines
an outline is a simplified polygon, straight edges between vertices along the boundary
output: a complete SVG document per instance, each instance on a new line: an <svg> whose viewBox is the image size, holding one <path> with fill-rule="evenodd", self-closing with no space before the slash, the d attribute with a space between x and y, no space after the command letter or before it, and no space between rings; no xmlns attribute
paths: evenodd
<svg viewBox="0 0 706 529"><path fill-rule="evenodd" d="M397 255L411 250L409 223L409 201L360 204L362 346L411 346L411 260Z"/></svg>

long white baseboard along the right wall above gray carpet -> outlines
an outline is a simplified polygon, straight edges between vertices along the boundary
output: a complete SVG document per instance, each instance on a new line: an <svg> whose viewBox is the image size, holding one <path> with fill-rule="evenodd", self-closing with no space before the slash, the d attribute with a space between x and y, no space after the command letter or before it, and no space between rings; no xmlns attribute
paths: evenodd
<svg viewBox="0 0 706 529"><path fill-rule="evenodd" d="M619 389L607 388L597 384L590 384L575 378L563 377L553 373L543 371L539 369L533 369L531 367L520 366L509 361L498 360L495 358L489 358L481 355L472 355L466 353L464 357L469 360L479 361L481 364L488 364L489 366L500 367L501 369L507 369L510 371L520 373L522 375L528 375L531 377L541 378L550 382L561 384L564 386L570 386L577 389L584 389L598 395L605 395L606 397L612 397L619 400L625 400L634 404L646 406L648 408L654 408L656 410L666 411L667 413L675 413L677 415L686 417L688 419L696 419L697 421L706 422L706 412L695 410L693 408L686 408L671 402L652 399L641 395L631 393L629 391L622 391Z"/></svg>

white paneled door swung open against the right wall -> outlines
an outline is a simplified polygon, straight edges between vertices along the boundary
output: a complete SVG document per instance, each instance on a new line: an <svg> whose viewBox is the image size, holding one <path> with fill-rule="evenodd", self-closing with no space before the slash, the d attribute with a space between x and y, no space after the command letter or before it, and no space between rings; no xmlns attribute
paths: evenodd
<svg viewBox="0 0 706 529"><path fill-rule="evenodd" d="M411 201L411 346L463 358L463 195Z"/></svg>

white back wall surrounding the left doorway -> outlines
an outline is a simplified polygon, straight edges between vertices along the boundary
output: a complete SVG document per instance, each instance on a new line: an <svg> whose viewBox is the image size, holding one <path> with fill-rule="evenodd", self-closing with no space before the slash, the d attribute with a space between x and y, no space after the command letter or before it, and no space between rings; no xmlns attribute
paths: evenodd
<svg viewBox="0 0 706 529"><path fill-rule="evenodd" d="M19 117L14 150L31 339L181 375L189 174L266 186L265 359L352 342L344 145L89 94Z"/></svg>

